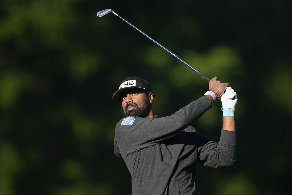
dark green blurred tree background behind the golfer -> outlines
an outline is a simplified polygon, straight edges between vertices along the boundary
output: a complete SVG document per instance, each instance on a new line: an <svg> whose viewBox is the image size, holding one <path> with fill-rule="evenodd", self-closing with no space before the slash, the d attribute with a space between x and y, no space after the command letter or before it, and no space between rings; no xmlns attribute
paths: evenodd
<svg viewBox="0 0 292 195"><path fill-rule="evenodd" d="M237 162L198 165L197 193L290 194L291 1L4 0L0 2L0 190L130 194L113 154L127 76L148 80L154 112L171 115L208 89L184 64L109 14L113 9L238 93ZM193 126L219 141L221 103Z"/></svg>

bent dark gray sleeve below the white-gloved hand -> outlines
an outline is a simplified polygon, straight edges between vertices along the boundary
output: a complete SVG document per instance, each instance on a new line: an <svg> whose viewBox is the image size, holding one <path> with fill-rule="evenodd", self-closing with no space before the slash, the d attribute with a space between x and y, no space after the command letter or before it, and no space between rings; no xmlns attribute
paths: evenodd
<svg viewBox="0 0 292 195"><path fill-rule="evenodd" d="M198 162L213 168L231 166L236 160L237 132L221 130L220 141L204 137L198 146Z"/></svg>

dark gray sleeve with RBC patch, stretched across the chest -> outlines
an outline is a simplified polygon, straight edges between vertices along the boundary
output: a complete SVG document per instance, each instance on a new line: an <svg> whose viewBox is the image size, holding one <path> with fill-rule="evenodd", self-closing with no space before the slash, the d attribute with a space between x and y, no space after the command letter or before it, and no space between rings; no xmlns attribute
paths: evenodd
<svg viewBox="0 0 292 195"><path fill-rule="evenodd" d="M152 119L136 117L131 125L122 125L120 121L116 125L117 141L128 154L154 145L185 129L211 107L212 101L203 96L170 116Z"/></svg>

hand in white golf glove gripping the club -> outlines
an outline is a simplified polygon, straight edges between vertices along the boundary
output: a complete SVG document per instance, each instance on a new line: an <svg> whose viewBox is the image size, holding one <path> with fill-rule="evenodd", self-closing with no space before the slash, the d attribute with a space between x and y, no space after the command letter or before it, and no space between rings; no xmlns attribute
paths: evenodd
<svg viewBox="0 0 292 195"><path fill-rule="evenodd" d="M232 100L231 98L234 98L234 100ZM227 87L225 90L225 93L223 93L219 99L221 100L222 103L222 108L231 108L232 110L235 111L235 105L237 103L237 94L236 92L231 88L231 87Z"/></svg>

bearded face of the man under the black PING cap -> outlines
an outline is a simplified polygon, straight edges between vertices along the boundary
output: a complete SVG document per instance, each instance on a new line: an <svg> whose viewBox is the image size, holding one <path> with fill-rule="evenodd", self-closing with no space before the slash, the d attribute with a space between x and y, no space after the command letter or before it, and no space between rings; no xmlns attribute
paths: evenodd
<svg viewBox="0 0 292 195"><path fill-rule="evenodd" d="M126 116L145 118L149 115L151 104L145 90L130 89L121 95L123 110Z"/></svg>

